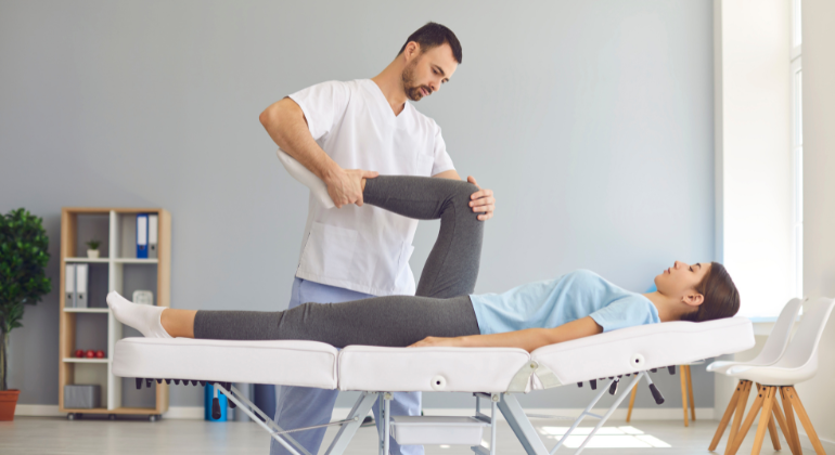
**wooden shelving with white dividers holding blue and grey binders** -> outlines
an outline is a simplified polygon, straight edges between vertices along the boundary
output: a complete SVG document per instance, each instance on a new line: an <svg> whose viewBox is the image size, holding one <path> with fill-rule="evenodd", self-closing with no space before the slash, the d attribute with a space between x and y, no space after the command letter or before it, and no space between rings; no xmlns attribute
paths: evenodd
<svg viewBox="0 0 835 455"><path fill-rule="evenodd" d="M137 258L137 213L156 213L158 258ZM88 258L88 240L99 239L100 257ZM89 264L87 299L93 308L66 307L66 269L59 281L59 403L64 402L64 386L98 384L101 406L94 410L64 410L81 414L163 414L168 408L169 386L156 385L154 391L134 390L132 381L113 375L113 358L118 340L127 329L111 317L104 306L111 291L130 296L137 289L154 294L157 307L168 307L171 274L171 214L160 208L65 207L61 211L61 264ZM72 294L70 294L72 298ZM130 335L128 333L127 335ZM107 359L75 358L76 346L102 348Z"/></svg>

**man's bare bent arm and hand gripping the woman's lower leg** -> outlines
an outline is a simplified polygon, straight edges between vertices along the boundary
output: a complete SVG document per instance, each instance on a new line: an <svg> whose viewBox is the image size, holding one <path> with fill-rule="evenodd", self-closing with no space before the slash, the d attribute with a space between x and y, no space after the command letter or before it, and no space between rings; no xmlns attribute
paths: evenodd
<svg viewBox="0 0 835 455"><path fill-rule="evenodd" d="M307 126L305 113L290 98L267 107L258 117L275 144L287 155L308 168L327 185L334 205L362 205L363 178L372 179L376 172L361 169L343 169L317 144Z"/></svg>

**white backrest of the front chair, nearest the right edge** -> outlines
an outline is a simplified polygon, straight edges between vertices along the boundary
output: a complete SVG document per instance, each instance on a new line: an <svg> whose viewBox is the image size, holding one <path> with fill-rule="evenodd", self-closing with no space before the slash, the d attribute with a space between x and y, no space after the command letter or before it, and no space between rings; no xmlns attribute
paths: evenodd
<svg viewBox="0 0 835 455"><path fill-rule="evenodd" d="M797 327L797 333L788 343L785 354L775 366L783 368L799 368L809 361L818 359L818 342L823 335L823 328L835 307L835 299L819 297L809 300L804 311L804 317Z"/></svg>

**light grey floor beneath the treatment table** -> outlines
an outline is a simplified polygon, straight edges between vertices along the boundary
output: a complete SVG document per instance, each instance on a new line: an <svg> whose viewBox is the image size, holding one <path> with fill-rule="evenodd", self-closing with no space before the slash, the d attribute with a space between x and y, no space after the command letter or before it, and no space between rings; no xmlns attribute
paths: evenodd
<svg viewBox="0 0 835 455"><path fill-rule="evenodd" d="M566 426L566 420L534 420L540 430L547 446L553 446L555 440L548 432L555 432L553 427ZM716 430L717 421L698 420L684 428L681 420L632 421L624 429L624 421L611 421L604 428L609 433L643 432L670 445L670 447L612 447L587 448L583 453L594 454L699 454L707 453L707 445ZM618 430L618 427L621 427ZM329 430L329 441L335 430ZM622 437L619 441L624 441ZM628 439L628 438L627 438ZM652 440L652 439L651 439ZM616 442L609 439L609 442ZM789 454L785 440L783 454ZM657 441L656 441L657 443ZM626 442L629 444L629 441ZM14 421L0 422L0 454L261 454L268 453L269 435L255 424L224 422L213 424L203 420L143 420L84 419L69 421L65 418L16 417ZM743 444L740 454L750 453L753 431ZM513 431L502 422L499 428L498 452L502 455L524 455ZM724 440L719 451L724 450ZM346 455L376 454L376 430L362 428L351 441ZM558 453L574 453L574 448L561 448ZM774 452L767 437L762 454ZM807 450L806 453L813 453ZM427 455L470 455L466 446L426 446Z"/></svg>

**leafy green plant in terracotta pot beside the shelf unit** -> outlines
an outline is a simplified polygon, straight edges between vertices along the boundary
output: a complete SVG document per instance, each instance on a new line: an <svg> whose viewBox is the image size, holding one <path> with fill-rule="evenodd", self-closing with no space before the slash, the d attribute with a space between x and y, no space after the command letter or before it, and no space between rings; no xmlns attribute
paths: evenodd
<svg viewBox="0 0 835 455"><path fill-rule="evenodd" d="M0 216L0 420L13 420L20 390L8 390L9 334L22 327L24 306L52 288L43 269L49 237L42 220L25 209Z"/></svg>

